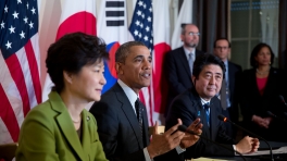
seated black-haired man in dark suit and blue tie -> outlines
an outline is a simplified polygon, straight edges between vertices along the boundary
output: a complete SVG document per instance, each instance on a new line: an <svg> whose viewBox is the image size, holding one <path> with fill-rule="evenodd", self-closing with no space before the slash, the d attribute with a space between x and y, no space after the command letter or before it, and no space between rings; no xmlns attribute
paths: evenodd
<svg viewBox="0 0 287 161"><path fill-rule="evenodd" d="M195 119L200 117L203 123L201 136L220 144L226 144L226 147L236 149L240 153L257 151L259 148L257 138L246 136L236 144L225 134L224 122L217 119L217 115L222 114L222 108L219 98L214 96L221 89L224 73L224 63L217 57L210 53L199 55L195 61L192 71L195 87L174 99L165 127L171 127L177 119L182 119L183 124L188 125ZM185 157L201 156L235 156L235 152L200 138L192 147L186 149Z"/></svg>

